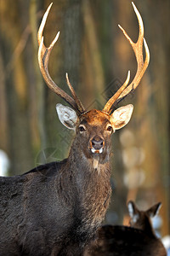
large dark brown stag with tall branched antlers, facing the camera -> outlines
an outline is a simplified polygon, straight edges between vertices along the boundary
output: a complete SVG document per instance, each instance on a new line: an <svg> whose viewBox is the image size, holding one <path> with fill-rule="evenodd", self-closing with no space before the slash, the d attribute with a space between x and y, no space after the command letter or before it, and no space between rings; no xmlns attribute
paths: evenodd
<svg viewBox="0 0 170 256"><path fill-rule="evenodd" d="M102 110L83 107L68 74L71 96L60 89L48 72L49 55L59 38L46 47L43 29L48 6L37 32L38 63L42 77L70 107L56 105L60 122L75 131L65 160L40 165L22 175L0 178L0 255L82 255L105 218L111 199L111 135L127 125L133 113L128 104L113 109L142 79L150 60L144 40L144 24L138 9L139 38L131 44L137 60L137 73L129 83L130 72L119 90ZM143 48L145 57L143 56Z"/></svg>

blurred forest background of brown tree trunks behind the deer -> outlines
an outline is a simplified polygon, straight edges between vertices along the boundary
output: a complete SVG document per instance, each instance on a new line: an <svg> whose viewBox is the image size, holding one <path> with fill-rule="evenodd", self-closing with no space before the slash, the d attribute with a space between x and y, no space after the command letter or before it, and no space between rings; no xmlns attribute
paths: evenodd
<svg viewBox="0 0 170 256"><path fill-rule="evenodd" d="M37 63L37 29L50 0L0 0L0 151L8 175L67 157L74 134L59 123L63 102L43 82ZM150 65L139 88L118 107L133 103L130 123L113 135L113 195L106 223L127 223L127 201L140 209L161 201L156 222L169 233L170 210L170 1L134 1L144 20ZM136 41L139 27L129 0L57 0L48 16L44 41L60 36L49 72L69 93L69 73L84 106L104 107L137 63L118 28Z"/></svg>

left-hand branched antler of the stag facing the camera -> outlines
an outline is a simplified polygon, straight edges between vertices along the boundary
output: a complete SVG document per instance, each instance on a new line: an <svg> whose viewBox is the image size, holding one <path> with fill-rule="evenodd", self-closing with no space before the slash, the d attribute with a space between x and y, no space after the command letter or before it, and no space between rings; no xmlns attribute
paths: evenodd
<svg viewBox="0 0 170 256"><path fill-rule="evenodd" d="M48 48L45 47L43 44L43 36L42 32L46 23L46 20L48 18L48 13L49 10L51 9L53 3L51 3L48 6L48 9L46 10L45 14L43 15L42 18L42 23L39 27L39 30L37 32L37 41L39 44L39 49L38 49L38 62L39 62L39 67L43 76L43 79L45 80L46 84L48 84L48 87L51 90L54 90L54 92L63 98L65 102L69 103L72 108L76 110L77 113L81 114L85 112L85 108L82 106L82 102L78 99L75 90L72 88L71 83L69 82L68 75L66 74L66 80L67 84L71 90L71 96L69 96L67 93L65 93L64 90L60 89L57 84L54 83L53 79L51 79L49 73L48 73L48 60L49 60L49 55L54 47L54 44L57 42L59 38L59 32L57 33L56 37L54 38L53 42L49 45Z"/></svg>

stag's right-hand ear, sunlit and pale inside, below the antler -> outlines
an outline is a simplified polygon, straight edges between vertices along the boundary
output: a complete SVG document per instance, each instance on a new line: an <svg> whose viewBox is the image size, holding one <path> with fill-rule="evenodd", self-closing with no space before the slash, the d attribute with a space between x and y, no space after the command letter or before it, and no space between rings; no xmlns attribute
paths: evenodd
<svg viewBox="0 0 170 256"><path fill-rule="evenodd" d="M113 113L111 113L110 121L114 130L121 129L123 126L127 125L131 119L133 113L133 105L129 104L127 106L117 108Z"/></svg>

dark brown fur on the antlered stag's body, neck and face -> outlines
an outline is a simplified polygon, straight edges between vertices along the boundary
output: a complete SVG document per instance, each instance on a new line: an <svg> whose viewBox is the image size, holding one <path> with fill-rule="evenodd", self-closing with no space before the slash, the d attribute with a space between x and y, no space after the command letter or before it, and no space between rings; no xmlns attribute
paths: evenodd
<svg viewBox="0 0 170 256"><path fill-rule="evenodd" d="M105 218L111 196L111 134L105 132L108 116L87 122L68 159L37 166L16 177L0 178L0 255L82 255ZM102 154L92 154L94 136L105 139ZM98 160L94 168L94 158Z"/></svg>

